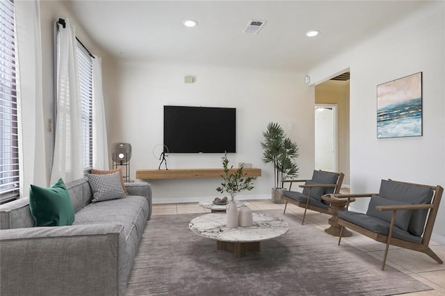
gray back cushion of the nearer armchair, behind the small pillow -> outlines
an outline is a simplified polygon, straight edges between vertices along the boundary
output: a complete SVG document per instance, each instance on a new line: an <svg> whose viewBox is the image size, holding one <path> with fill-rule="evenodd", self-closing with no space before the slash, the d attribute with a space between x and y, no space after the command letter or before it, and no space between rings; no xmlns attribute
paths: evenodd
<svg viewBox="0 0 445 296"><path fill-rule="evenodd" d="M421 186L402 184L394 181L382 180L379 196L386 199L405 202L406 204L430 204L433 190ZM408 232L414 236L421 236L425 227L428 209L413 211Z"/></svg>

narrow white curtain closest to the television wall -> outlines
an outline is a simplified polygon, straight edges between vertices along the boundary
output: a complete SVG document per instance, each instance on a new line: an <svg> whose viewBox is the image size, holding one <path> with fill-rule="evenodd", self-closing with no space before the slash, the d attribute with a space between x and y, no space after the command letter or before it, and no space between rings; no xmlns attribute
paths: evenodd
<svg viewBox="0 0 445 296"><path fill-rule="evenodd" d="M97 170L108 170L102 64L99 56L92 59L92 85L92 166Z"/></svg>

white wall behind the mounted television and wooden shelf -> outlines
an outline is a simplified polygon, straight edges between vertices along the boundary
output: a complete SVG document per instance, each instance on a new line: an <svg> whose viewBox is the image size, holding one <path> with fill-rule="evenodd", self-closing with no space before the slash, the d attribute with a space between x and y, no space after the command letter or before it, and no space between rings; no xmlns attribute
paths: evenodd
<svg viewBox="0 0 445 296"><path fill-rule="evenodd" d="M261 162L260 142L268 122L278 122L300 147L300 176L314 170L314 88L304 84L304 74L261 69L205 67L166 63L122 61L117 69L117 94L109 101L108 140L132 145L131 179L137 169L157 169L154 146L163 142L163 106L213 106L236 108L237 152L229 154L234 167L239 162L262 169L255 189L241 197L270 196L272 165ZM195 83L184 83L184 76ZM293 130L289 130L293 123ZM170 154L169 168L222 167L223 154ZM220 179L175 179L150 181L155 202L192 201L218 195Z"/></svg>

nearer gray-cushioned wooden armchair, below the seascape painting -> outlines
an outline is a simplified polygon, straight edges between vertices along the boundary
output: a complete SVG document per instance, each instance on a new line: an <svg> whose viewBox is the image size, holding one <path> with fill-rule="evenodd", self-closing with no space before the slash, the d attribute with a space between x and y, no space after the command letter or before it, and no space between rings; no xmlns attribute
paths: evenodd
<svg viewBox="0 0 445 296"><path fill-rule="evenodd" d="M422 252L437 263L443 261L430 249L429 242L444 188L401 181L382 180L378 194L334 195L342 198L371 197L368 211L339 212L337 222L373 240L386 244L382 270L389 245Z"/></svg>

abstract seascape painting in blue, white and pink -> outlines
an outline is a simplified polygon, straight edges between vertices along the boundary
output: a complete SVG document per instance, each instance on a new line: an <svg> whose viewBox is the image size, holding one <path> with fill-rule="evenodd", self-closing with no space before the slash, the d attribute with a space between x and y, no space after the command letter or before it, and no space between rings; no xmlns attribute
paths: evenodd
<svg viewBox="0 0 445 296"><path fill-rule="evenodd" d="M422 135L422 72L377 85L377 138Z"/></svg>

